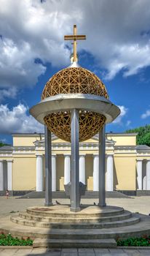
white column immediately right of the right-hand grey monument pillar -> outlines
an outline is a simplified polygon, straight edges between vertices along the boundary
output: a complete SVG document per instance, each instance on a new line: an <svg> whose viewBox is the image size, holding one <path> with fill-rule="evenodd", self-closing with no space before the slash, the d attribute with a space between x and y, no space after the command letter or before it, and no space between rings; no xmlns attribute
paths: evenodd
<svg viewBox="0 0 150 256"><path fill-rule="evenodd" d="M114 161L113 155L107 156L107 169L106 169L106 191L114 190Z"/></svg>

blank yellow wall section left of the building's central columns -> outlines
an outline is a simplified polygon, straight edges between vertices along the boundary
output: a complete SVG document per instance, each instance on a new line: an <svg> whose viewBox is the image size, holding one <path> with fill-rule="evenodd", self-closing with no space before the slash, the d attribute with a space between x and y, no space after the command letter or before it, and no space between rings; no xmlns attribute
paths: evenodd
<svg viewBox="0 0 150 256"><path fill-rule="evenodd" d="M12 167L13 190L29 190L36 187L36 157L14 157Z"/></svg>

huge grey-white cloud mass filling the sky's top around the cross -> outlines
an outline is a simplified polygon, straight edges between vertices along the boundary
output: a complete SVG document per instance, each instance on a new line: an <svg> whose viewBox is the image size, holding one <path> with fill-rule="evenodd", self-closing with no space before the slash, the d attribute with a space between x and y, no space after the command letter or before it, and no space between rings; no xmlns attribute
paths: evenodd
<svg viewBox="0 0 150 256"><path fill-rule="evenodd" d="M79 50L95 57L107 79L150 65L149 0L0 0L0 5L1 99L35 85L47 62L68 66L63 36L72 34L74 23L79 34L87 35ZM15 94L9 92L12 87Z"/></svg>

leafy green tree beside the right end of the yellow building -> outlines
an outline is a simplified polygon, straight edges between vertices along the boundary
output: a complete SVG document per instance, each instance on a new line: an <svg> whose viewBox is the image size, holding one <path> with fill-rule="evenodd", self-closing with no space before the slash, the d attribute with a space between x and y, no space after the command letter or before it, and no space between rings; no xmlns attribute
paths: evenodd
<svg viewBox="0 0 150 256"><path fill-rule="evenodd" d="M135 129L128 129L126 131L127 133L138 133L136 138L136 143L138 145L147 145L150 146L150 125L147 125L145 127L138 127Z"/></svg>

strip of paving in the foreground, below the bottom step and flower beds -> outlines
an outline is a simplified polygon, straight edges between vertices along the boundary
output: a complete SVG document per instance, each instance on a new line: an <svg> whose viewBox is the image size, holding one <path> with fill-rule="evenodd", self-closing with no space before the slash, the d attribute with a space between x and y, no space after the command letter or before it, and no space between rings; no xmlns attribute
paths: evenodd
<svg viewBox="0 0 150 256"><path fill-rule="evenodd" d="M0 249L1 256L149 256L150 249Z"/></svg>

